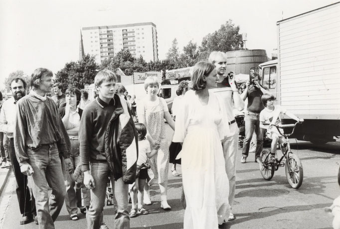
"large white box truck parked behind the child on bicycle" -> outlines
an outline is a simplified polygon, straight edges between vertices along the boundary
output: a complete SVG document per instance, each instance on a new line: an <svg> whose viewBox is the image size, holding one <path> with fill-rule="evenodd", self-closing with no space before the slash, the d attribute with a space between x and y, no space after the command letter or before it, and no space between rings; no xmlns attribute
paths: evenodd
<svg viewBox="0 0 340 229"><path fill-rule="evenodd" d="M277 22L278 59L260 65L277 104L305 122L294 137L314 143L340 136L340 2ZM294 120L282 117L283 123Z"/></svg>

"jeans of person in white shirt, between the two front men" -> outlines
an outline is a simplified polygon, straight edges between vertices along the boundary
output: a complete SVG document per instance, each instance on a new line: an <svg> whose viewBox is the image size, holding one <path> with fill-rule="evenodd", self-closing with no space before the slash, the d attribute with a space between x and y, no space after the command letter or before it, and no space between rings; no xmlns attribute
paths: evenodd
<svg viewBox="0 0 340 229"><path fill-rule="evenodd" d="M80 164L80 155L79 155L79 146L78 139L71 139L71 154L70 159L75 169L78 164ZM64 176L64 182L66 186L66 196L65 196L65 205L68 213L70 215L75 215L78 212L77 207L81 207L81 183L77 183L76 190L74 190L75 182L71 180L70 175L68 173L68 168L62 160L62 170Z"/></svg>

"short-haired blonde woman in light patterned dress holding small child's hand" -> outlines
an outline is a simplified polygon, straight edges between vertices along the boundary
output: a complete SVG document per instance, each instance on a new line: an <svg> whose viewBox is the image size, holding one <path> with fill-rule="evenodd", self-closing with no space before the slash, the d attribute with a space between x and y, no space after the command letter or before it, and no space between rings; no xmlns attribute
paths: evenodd
<svg viewBox="0 0 340 229"><path fill-rule="evenodd" d="M140 100L137 104L137 114L139 122L146 125L148 133L147 139L152 148L155 145L160 145L158 153L152 157L151 169L155 174L155 179L158 181L161 190L161 208L170 210L171 207L167 201L168 190L168 172L169 172L169 144L166 138L166 126L164 119L174 129L174 121L168 110L166 101L158 97L160 89L160 81L157 77L148 77L144 82L144 88L147 91L147 96ZM144 203L151 204L150 187L148 184L144 186Z"/></svg>

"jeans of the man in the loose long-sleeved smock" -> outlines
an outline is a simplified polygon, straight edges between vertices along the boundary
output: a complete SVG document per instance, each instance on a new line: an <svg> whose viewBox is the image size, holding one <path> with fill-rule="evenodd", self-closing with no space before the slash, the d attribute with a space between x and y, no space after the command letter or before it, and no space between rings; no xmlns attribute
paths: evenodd
<svg viewBox="0 0 340 229"><path fill-rule="evenodd" d="M39 229L54 229L66 195L61 162L56 143L41 145L39 149L27 150L28 163L34 173L29 176L35 197L35 207ZM52 188L52 196L48 200L48 186Z"/></svg>

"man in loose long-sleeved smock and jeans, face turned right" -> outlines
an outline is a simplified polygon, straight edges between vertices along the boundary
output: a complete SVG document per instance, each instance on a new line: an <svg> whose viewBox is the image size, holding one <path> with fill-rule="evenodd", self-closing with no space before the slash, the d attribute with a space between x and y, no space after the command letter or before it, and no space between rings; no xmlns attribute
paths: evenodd
<svg viewBox="0 0 340 229"><path fill-rule="evenodd" d="M28 176L36 200L40 229L54 229L64 203L66 188L60 155L71 164L70 138L57 106L46 96L53 86L53 73L35 69L31 75L31 91L16 104L14 148L20 171ZM53 198L49 198L48 187Z"/></svg>

